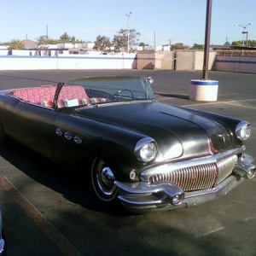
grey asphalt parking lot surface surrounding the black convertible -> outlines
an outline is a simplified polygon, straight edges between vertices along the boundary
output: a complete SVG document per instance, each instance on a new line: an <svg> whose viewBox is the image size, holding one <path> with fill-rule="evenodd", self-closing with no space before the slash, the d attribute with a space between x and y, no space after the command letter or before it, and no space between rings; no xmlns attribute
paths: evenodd
<svg viewBox="0 0 256 256"><path fill-rule="evenodd" d="M210 72L218 101L189 100L201 72L150 70L0 71L0 90L82 76L141 74L154 79L160 102L246 119L247 154L256 162L256 74ZM132 215L102 209L87 178L61 170L21 148L0 145L0 206L9 256L256 255L256 178L217 201L169 212Z"/></svg>

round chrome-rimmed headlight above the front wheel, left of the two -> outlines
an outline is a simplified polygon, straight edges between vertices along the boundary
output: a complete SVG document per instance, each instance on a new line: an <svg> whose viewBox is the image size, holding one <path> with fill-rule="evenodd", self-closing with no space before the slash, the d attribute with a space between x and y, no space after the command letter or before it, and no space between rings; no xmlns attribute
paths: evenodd
<svg viewBox="0 0 256 256"><path fill-rule="evenodd" d="M137 160L148 163L155 159L157 154L157 144L151 137L144 137L140 139L134 149L134 154Z"/></svg>

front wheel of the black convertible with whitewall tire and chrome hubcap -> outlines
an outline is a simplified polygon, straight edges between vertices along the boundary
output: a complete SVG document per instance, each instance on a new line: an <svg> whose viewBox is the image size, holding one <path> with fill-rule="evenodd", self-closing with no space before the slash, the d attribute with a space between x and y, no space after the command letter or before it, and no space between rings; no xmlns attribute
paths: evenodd
<svg viewBox="0 0 256 256"><path fill-rule="evenodd" d="M96 198L103 203L117 201L117 188L114 184L111 167L103 160L95 159L90 170L90 182Z"/></svg>

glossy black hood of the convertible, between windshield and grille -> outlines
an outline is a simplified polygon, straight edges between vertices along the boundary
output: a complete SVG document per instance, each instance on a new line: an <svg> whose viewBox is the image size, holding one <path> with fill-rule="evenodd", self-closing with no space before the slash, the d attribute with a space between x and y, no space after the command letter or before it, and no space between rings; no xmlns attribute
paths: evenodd
<svg viewBox="0 0 256 256"><path fill-rule="evenodd" d="M198 157L232 145L228 131L216 121L160 102L79 108L77 114L154 138L165 159Z"/></svg>

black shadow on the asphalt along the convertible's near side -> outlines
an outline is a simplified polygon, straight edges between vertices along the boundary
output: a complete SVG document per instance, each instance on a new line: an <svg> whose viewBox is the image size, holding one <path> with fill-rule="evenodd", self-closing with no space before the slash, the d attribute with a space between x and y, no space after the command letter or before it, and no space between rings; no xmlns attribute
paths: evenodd
<svg viewBox="0 0 256 256"><path fill-rule="evenodd" d="M12 169L10 172L9 170L2 171L0 169L3 176L7 178L8 175L5 175L4 172L21 172L28 179L35 181L35 183L43 184L45 187L61 194L67 201L79 204L90 211L108 213L114 216L131 215L120 204L118 207L115 205L114 207L105 207L96 201L90 191L89 165L84 165L83 172L81 172L81 166L79 165L73 166L72 169L69 166L60 166L38 154L26 150L26 148L16 143L1 144L0 157L8 161L10 163L8 168ZM11 177L14 179L12 183L15 185L15 174L11 175ZM17 179L19 179L19 175L17 175ZM30 184L29 182L24 184L20 184L20 181L17 182L19 183L19 192L21 194L23 186L27 190L27 186Z"/></svg>

